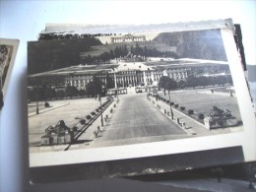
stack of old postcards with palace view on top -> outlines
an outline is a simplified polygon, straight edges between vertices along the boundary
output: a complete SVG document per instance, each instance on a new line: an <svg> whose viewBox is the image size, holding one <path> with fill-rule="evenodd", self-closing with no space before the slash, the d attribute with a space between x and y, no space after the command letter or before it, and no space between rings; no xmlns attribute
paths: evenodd
<svg viewBox="0 0 256 192"><path fill-rule="evenodd" d="M32 183L256 160L231 20L47 25L28 44Z"/></svg>

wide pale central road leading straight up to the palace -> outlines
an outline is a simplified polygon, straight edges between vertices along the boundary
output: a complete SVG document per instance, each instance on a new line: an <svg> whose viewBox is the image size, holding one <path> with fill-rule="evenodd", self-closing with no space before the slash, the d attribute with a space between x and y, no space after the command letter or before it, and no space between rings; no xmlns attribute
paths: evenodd
<svg viewBox="0 0 256 192"><path fill-rule="evenodd" d="M187 133L149 102L146 94L120 96L120 102L94 147L184 138Z"/></svg>

